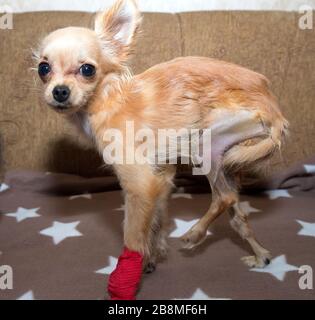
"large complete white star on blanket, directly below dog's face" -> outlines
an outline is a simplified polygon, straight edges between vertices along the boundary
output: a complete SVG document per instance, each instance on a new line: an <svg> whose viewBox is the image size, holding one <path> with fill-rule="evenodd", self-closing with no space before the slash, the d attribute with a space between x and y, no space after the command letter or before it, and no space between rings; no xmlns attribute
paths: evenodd
<svg viewBox="0 0 315 320"><path fill-rule="evenodd" d="M52 237L54 244L57 245L67 238L82 236L82 233L76 229L79 223L80 221L71 223L54 221L50 228L41 230L39 233L44 236Z"/></svg>

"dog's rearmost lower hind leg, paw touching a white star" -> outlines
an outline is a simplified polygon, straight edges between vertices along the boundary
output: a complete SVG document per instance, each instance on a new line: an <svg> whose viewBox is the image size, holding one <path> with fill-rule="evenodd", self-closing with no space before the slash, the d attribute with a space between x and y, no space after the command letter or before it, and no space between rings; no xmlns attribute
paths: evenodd
<svg viewBox="0 0 315 320"><path fill-rule="evenodd" d="M247 240L254 251L254 256L243 257L242 261L250 268L263 268L270 263L271 254L255 239L254 233L248 224L248 217L240 207L239 202L230 208L232 216L232 228L244 239Z"/></svg>

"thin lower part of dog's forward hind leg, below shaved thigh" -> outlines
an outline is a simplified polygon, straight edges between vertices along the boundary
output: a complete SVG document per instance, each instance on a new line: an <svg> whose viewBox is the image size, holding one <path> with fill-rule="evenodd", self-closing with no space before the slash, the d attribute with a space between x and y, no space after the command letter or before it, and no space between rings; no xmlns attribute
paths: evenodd
<svg viewBox="0 0 315 320"><path fill-rule="evenodd" d="M212 189L212 203L207 213L181 239L184 248L192 249L201 244L207 236L210 224L237 201L237 192L228 181L223 170L219 170L215 181L213 175L207 176Z"/></svg>

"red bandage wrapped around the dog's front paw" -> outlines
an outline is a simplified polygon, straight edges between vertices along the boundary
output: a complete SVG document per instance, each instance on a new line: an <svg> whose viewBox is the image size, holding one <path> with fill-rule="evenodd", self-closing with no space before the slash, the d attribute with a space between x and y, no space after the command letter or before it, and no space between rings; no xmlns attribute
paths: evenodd
<svg viewBox="0 0 315 320"><path fill-rule="evenodd" d="M124 248L116 269L109 276L108 292L111 300L135 300L142 275L143 256Z"/></svg>

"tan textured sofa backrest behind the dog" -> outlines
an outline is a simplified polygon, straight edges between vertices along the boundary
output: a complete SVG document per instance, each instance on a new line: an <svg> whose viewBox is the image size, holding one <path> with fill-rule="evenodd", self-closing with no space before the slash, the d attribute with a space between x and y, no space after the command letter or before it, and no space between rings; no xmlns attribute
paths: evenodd
<svg viewBox="0 0 315 320"><path fill-rule="evenodd" d="M145 14L133 70L177 56L201 55L242 64L268 76L291 122L285 164L315 153L315 37L298 29L298 14L202 12ZM65 119L40 103L31 48L60 27L91 26L88 13L14 16L0 30L0 170L27 168L99 174L101 160Z"/></svg>

